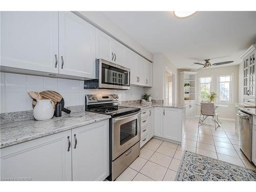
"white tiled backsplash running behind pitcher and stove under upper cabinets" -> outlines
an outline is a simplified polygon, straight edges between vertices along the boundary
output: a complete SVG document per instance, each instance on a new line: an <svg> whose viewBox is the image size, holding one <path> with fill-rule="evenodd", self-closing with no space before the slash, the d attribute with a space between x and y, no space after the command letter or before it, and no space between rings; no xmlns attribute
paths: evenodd
<svg viewBox="0 0 256 192"><path fill-rule="evenodd" d="M143 88L130 90L84 90L84 81L13 73L1 73L1 113L32 110L29 91L52 90L60 93L65 106L84 105L86 94L118 94L119 101L141 99Z"/></svg>

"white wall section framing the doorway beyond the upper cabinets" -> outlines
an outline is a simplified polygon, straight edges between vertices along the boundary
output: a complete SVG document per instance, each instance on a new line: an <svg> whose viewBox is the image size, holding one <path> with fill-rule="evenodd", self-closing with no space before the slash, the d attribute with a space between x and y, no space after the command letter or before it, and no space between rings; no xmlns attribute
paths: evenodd
<svg viewBox="0 0 256 192"><path fill-rule="evenodd" d="M168 68L175 75L175 103L178 101L178 71L173 63L163 54L154 54L153 65L153 87L145 88L144 91L151 94L153 99L165 99L165 68ZM174 78L174 76L173 76ZM173 103L174 103L173 102Z"/></svg>

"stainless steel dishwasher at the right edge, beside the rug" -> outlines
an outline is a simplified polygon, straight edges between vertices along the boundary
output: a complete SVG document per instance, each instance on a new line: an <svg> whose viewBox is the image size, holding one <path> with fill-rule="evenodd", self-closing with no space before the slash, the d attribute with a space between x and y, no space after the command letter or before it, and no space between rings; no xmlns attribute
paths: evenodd
<svg viewBox="0 0 256 192"><path fill-rule="evenodd" d="M251 161L252 115L238 110L239 146L245 156Z"/></svg>

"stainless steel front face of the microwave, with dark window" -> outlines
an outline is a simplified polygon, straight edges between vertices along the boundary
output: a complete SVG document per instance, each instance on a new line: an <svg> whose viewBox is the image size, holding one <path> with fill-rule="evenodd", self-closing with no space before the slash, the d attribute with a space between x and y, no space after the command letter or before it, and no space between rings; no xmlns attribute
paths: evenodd
<svg viewBox="0 0 256 192"><path fill-rule="evenodd" d="M130 89L130 69L99 59L99 88Z"/></svg>

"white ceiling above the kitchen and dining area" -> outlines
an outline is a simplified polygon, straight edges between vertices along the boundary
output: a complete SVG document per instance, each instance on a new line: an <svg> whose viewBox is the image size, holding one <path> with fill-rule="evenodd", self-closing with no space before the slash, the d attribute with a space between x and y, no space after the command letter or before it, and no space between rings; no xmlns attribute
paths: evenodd
<svg viewBox="0 0 256 192"><path fill-rule="evenodd" d="M103 14L152 53L164 53L178 69L233 60L256 44L256 11L200 11L186 19L172 12L104 11ZM225 65L227 66L227 65Z"/></svg>

